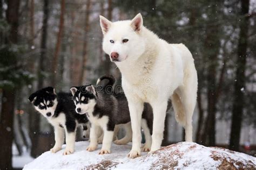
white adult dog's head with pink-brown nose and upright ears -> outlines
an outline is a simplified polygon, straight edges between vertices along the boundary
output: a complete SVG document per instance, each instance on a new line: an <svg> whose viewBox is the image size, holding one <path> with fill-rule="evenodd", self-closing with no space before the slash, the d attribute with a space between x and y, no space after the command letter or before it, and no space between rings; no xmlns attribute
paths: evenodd
<svg viewBox="0 0 256 170"><path fill-rule="evenodd" d="M111 22L100 16L104 35L103 50L110 60L118 64L125 60L137 60L145 51L143 18L140 13L132 20Z"/></svg>

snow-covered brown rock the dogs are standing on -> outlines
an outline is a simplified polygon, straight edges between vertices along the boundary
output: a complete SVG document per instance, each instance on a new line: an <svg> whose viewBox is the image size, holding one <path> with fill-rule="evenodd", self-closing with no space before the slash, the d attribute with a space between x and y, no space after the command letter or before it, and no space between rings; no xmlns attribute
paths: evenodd
<svg viewBox="0 0 256 170"><path fill-rule="evenodd" d="M87 152L87 141L76 143L70 155L45 152L24 169L256 169L256 158L220 147L205 147L181 142L162 147L151 154L142 153L136 159L127 158L129 145L112 145L112 153L99 155L100 147ZM64 146L63 146L64 148Z"/></svg>

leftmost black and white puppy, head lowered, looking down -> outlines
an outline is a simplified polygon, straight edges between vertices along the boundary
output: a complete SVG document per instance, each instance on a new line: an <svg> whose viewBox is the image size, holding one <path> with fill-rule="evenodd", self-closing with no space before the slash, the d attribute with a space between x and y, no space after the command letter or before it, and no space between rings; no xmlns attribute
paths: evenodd
<svg viewBox="0 0 256 170"><path fill-rule="evenodd" d="M46 87L29 96L29 101L54 127L55 145L51 152L61 150L66 133L66 148L64 155L75 151L76 129L78 124L88 125L85 115L76 114L76 106L71 93L55 93L53 87Z"/></svg>

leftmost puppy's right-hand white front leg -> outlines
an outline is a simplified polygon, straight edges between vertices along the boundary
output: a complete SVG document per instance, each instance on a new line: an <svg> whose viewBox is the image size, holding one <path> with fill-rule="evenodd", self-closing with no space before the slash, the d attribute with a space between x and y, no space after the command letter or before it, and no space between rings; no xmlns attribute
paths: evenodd
<svg viewBox="0 0 256 170"><path fill-rule="evenodd" d="M66 129L66 148L64 155L68 155L75 152L76 142L76 126L69 127Z"/></svg>

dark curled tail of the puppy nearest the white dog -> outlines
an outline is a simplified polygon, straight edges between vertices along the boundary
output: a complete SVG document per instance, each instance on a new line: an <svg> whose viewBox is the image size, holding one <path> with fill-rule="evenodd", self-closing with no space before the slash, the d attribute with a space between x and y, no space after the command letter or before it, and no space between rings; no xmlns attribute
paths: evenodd
<svg viewBox="0 0 256 170"><path fill-rule="evenodd" d="M116 79L114 78L114 76L112 76L112 75L104 75L104 76L99 77L99 79L97 80L96 85L97 86L102 86L102 88L104 90L112 91L114 83L116 83Z"/></svg>

